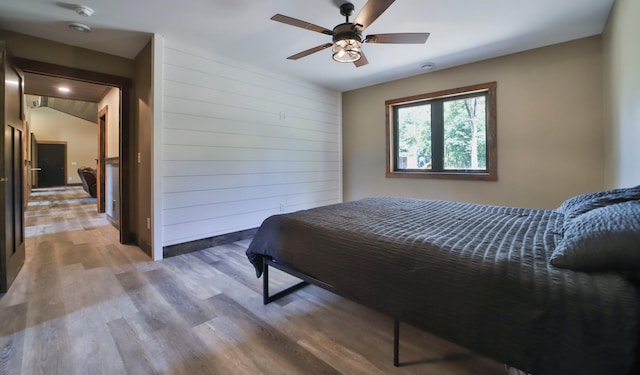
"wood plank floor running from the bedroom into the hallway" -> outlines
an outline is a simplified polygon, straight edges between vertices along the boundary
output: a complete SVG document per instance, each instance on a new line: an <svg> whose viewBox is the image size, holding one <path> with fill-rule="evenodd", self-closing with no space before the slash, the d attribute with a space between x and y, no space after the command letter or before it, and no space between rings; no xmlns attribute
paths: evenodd
<svg viewBox="0 0 640 375"><path fill-rule="evenodd" d="M406 325L395 368L388 316L313 286L263 306L249 241L152 262L81 190L53 193L29 208L27 260L0 299L0 374L505 373Z"/></svg>

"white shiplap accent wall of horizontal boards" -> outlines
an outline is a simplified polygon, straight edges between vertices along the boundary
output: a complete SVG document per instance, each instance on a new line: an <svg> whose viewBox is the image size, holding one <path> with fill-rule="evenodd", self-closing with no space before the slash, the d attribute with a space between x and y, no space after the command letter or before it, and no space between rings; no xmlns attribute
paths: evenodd
<svg viewBox="0 0 640 375"><path fill-rule="evenodd" d="M342 201L341 93L166 45L163 246Z"/></svg>

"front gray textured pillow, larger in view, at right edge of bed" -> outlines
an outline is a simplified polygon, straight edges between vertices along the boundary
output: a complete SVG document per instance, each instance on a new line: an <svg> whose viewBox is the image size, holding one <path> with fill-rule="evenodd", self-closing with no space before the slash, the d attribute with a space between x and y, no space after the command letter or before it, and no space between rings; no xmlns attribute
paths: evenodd
<svg viewBox="0 0 640 375"><path fill-rule="evenodd" d="M576 271L640 271L640 201L596 208L571 220L549 261Z"/></svg>

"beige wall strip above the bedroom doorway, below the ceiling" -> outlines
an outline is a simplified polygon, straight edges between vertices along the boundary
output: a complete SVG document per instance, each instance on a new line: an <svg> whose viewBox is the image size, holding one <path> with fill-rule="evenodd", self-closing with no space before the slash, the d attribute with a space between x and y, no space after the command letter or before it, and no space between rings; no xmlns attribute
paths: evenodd
<svg viewBox="0 0 640 375"><path fill-rule="evenodd" d="M85 69L92 72L133 77L133 62L124 57L96 52L85 48L0 29L0 40L17 57L50 64Z"/></svg>

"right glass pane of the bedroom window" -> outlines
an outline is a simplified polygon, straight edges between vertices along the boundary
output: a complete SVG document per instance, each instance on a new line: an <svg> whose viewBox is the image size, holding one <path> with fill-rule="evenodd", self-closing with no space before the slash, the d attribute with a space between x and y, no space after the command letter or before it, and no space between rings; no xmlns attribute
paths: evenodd
<svg viewBox="0 0 640 375"><path fill-rule="evenodd" d="M487 169L485 96L443 103L444 169Z"/></svg>

